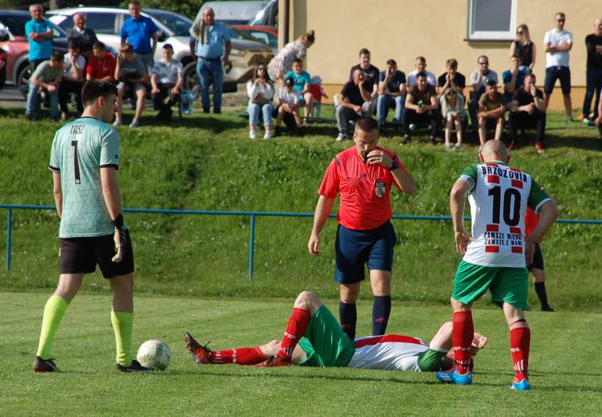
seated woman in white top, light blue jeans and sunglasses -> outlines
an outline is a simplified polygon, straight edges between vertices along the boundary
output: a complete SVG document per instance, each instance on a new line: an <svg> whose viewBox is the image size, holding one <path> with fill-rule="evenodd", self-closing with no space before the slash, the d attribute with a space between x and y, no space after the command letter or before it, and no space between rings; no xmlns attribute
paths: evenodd
<svg viewBox="0 0 602 417"><path fill-rule="evenodd" d="M259 114L264 116L264 127L266 133L264 139L272 137L272 113L274 107L272 98L274 96L274 87L268 75L266 66L263 64L255 69L255 76L247 82L247 94L249 96L249 105L247 108L249 114L249 137L257 138L257 125L259 124Z"/></svg>

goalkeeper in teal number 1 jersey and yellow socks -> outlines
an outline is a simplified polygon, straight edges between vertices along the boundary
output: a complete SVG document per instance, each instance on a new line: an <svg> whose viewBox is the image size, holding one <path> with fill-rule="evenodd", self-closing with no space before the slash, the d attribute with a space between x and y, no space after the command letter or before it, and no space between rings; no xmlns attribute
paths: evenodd
<svg viewBox="0 0 602 417"><path fill-rule="evenodd" d="M111 321L116 342L116 370L147 370L132 359L132 243L117 184L119 134L109 125L115 111L113 84L91 80L82 88L84 112L57 130L50 152L54 201L61 218L59 285L48 299L42 320L36 372L58 371L51 356L52 340L84 274L96 264L113 293Z"/></svg>

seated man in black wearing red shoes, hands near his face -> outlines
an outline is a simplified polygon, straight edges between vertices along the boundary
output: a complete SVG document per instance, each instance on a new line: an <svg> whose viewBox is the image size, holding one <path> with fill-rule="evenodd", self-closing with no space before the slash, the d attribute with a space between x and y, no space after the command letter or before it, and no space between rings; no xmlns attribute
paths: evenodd
<svg viewBox="0 0 602 417"><path fill-rule="evenodd" d="M518 129L535 129L535 149L543 153L545 134L545 103L543 93L535 87L535 75L528 74L520 89L513 94L513 105L509 114L510 145L508 149L518 148Z"/></svg>

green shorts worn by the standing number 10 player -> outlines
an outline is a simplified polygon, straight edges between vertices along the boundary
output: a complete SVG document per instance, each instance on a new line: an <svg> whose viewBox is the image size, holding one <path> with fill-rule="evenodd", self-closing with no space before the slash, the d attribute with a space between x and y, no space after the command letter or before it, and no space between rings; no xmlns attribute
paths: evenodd
<svg viewBox="0 0 602 417"><path fill-rule="evenodd" d="M452 297L462 304L469 304L489 289L492 303L509 303L527 310L527 275L527 268L481 266L462 260L453 278Z"/></svg>

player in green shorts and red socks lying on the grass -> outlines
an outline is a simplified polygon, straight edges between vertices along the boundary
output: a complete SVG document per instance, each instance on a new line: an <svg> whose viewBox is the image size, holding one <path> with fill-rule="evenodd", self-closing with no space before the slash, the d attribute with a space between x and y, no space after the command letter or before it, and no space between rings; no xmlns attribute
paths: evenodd
<svg viewBox="0 0 602 417"><path fill-rule="evenodd" d="M404 335L380 335L350 340L326 305L310 291L297 296L283 340L258 347L211 351L186 333L186 348L197 364L357 367L427 372L450 369L451 322L439 328L430 344ZM487 338L474 333L472 356Z"/></svg>

